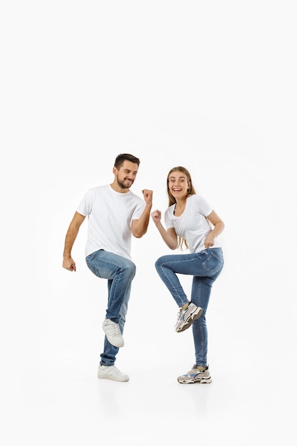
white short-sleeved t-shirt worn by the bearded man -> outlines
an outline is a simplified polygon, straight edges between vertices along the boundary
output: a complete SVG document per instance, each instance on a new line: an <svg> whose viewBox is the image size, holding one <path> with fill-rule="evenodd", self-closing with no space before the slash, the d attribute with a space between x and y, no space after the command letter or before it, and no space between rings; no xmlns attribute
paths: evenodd
<svg viewBox="0 0 297 446"><path fill-rule="evenodd" d="M129 190L115 192L110 185L93 187L76 209L88 216L85 256L104 249L131 259L132 220L139 219L145 202Z"/></svg>

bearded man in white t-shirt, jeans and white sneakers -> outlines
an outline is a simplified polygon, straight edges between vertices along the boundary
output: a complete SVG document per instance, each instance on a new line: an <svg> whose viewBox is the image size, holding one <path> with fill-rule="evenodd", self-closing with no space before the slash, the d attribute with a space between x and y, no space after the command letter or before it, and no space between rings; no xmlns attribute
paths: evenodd
<svg viewBox="0 0 297 446"><path fill-rule="evenodd" d="M152 190L142 190L144 200L130 190L139 165L139 158L128 153L115 158L113 182L86 192L69 225L63 251L63 268L76 271L71 250L80 225L88 216L85 260L93 274L108 279L105 341L98 378L115 381L129 380L115 367L115 356L124 346L125 316L136 271L130 256L131 239L132 235L140 238L147 232L152 208Z"/></svg>

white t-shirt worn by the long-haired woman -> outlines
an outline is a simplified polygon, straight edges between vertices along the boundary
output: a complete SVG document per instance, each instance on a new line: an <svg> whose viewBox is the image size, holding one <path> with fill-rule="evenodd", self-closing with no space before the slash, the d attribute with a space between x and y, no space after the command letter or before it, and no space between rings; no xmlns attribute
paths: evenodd
<svg viewBox="0 0 297 446"><path fill-rule="evenodd" d="M187 240L191 254L205 249L204 239L212 230L206 219L212 212L210 204L204 198L194 194L187 197L186 207L179 217L175 217L174 207L175 204L172 204L165 211L164 219L167 229L173 227L179 237ZM221 245L216 238L212 248L218 247Z"/></svg>

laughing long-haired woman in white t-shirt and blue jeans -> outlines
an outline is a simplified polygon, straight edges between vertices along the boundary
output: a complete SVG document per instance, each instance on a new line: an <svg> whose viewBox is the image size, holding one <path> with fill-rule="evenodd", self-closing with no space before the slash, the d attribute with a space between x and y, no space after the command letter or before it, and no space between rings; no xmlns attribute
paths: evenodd
<svg viewBox="0 0 297 446"><path fill-rule="evenodd" d="M191 176L185 167L173 167L167 176L169 207L165 212L165 227L161 212L151 213L162 239L170 249L189 249L189 254L165 255L155 267L160 278L179 306L176 331L192 326L195 364L192 370L177 378L179 383L211 383L207 364L207 323L205 314L212 284L224 265L222 247L217 239L224 222L202 197L196 194ZM187 298L177 274L193 276L191 301Z"/></svg>

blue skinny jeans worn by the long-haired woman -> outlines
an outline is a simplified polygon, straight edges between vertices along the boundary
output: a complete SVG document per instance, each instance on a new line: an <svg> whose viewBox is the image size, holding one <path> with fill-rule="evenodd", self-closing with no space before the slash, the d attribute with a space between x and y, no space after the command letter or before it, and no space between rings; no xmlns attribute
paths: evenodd
<svg viewBox="0 0 297 446"><path fill-rule="evenodd" d="M192 323L195 360L197 365L207 365L207 323L205 315L212 291L212 284L224 266L222 248L209 248L197 254L173 254L157 259L155 267L179 307L189 302L177 274L193 276L191 301L203 308L202 316Z"/></svg>

